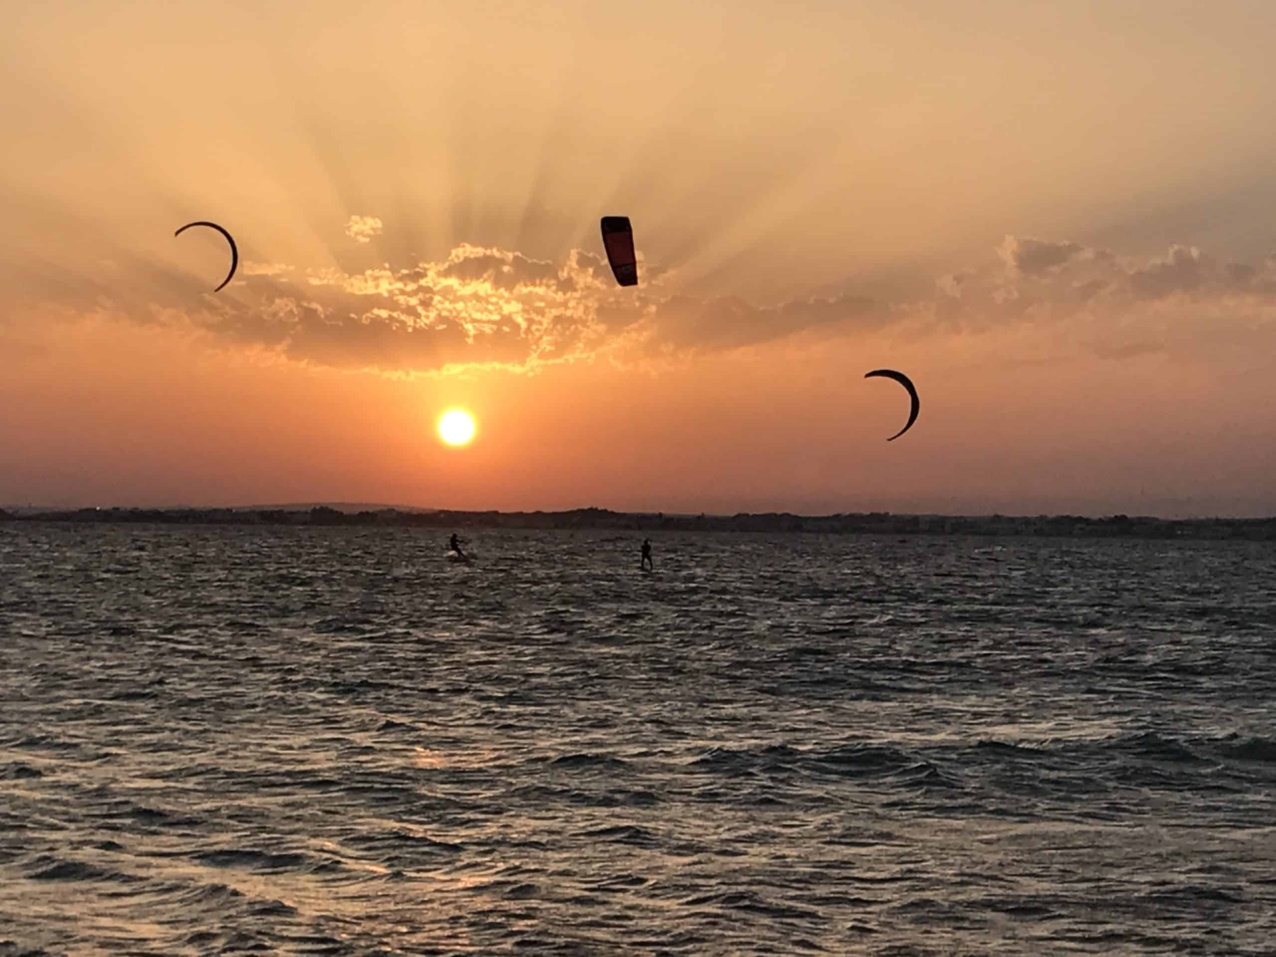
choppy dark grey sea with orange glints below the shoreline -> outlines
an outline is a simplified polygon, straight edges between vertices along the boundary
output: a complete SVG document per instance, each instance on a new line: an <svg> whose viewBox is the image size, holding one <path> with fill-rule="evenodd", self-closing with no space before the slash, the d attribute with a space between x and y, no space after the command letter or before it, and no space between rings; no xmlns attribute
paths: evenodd
<svg viewBox="0 0 1276 957"><path fill-rule="evenodd" d="M0 526L0 954L1272 953L1276 549Z"/></svg>

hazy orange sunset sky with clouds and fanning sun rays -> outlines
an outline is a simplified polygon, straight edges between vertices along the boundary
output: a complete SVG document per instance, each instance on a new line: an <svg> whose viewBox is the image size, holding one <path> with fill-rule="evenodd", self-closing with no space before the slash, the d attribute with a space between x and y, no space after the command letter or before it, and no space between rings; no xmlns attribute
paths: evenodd
<svg viewBox="0 0 1276 957"><path fill-rule="evenodd" d="M1273 50L1267 0L19 4L0 505L1276 513Z"/></svg>

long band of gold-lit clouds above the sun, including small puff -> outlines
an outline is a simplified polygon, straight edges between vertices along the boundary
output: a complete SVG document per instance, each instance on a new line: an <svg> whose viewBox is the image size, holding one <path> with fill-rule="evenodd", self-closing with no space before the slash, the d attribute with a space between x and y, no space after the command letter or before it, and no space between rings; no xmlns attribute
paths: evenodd
<svg viewBox="0 0 1276 957"><path fill-rule="evenodd" d="M379 228L374 217L352 217L347 232L359 240ZM443 260L353 273L246 262L218 295L162 271L128 288L84 281L64 285L55 305L64 314L194 328L225 346L286 361L399 375L493 366L535 371L597 359L649 364L798 334L896 330L916 339L1050 327L1055 341L1119 359L1259 341L1266 348L1276 333L1276 258L1225 263L1182 245L1132 258L1016 236L994 251L985 263L892 302L854 292L769 305L702 299L679 291L675 271L646 263L642 285L621 290L592 253L573 250L553 262L463 244ZM139 268L134 264L134 278ZM68 290L80 301L66 301Z"/></svg>

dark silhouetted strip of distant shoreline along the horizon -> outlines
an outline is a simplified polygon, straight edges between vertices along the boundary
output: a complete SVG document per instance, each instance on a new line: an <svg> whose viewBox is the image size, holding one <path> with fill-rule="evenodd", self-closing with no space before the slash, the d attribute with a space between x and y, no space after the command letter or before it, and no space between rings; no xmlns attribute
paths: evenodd
<svg viewBox="0 0 1276 957"><path fill-rule="evenodd" d="M94 524L231 524L302 527L527 528L610 530L629 532L760 532L810 535L983 535L1074 536L1085 538L1196 538L1276 541L1276 518L1187 518L1145 516L933 516L859 512L795 516L787 512L735 516L686 516L611 512L582 508L569 512L454 512L397 508L342 512L314 508L80 508L63 510L0 510L0 523L60 522Z"/></svg>

